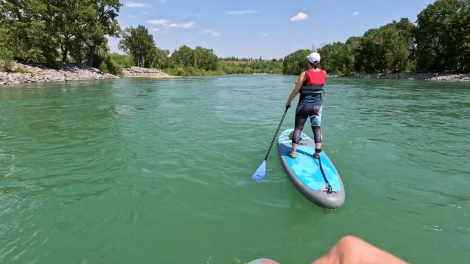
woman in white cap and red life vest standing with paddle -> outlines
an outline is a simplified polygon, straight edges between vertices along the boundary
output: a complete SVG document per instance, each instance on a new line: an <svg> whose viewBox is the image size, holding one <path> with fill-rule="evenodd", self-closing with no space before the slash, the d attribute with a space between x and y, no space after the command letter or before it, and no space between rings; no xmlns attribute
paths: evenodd
<svg viewBox="0 0 470 264"><path fill-rule="evenodd" d="M287 156L295 158L295 150L300 142L300 134L304 128L306 120L310 117L313 130L313 140L315 141L315 153L313 158L320 158L322 152L322 101L323 86L325 84L326 72L318 67L320 54L317 52L307 56L309 70L300 73L295 87L292 89L286 107L291 106L291 101L300 93L299 104L295 109L295 129L292 136L292 149L287 152Z"/></svg>

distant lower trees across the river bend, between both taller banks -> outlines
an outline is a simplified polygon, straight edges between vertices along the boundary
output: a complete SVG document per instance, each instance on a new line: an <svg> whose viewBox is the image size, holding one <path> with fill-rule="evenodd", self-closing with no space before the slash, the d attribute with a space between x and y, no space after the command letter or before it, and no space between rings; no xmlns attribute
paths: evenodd
<svg viewBox="0 0 470 264"><path fill-rule="evenodd" d="M172 75L217 75L234 73L281 73L282 63L278 60L253 60L253 58L219 58L212 49L186 45L175 49L171 55L167 49L159 49L153 35L143 25L127 27L121 36L119 48L127 53L114 53L111 58L120 67L133 60L137 67L156 68ZM127 59L126 59L127 58Z"/></svg>

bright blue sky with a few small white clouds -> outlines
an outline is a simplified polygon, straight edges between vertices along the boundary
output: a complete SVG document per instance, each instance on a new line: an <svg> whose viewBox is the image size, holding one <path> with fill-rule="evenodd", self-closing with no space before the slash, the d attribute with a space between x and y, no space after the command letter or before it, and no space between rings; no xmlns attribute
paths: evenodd
<svg viewBox="0 0 470 264"><path fill-rule="evenodd" d="M214 50L219 57L284 58L350 36L362 36L405 17L431 0L134 0L121 1L121 27L144 25L159 49L182 45ZM110 38L111 51L118 38Z"/></svg>

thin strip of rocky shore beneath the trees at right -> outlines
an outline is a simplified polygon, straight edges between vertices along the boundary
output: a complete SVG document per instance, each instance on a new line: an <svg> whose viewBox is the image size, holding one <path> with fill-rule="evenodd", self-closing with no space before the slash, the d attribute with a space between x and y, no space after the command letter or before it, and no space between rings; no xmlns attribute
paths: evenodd
<svg viewBox="0 0 470 264"><path fill-rule="evenodd" d="M335 77L356 77L364 79L432 80L443 82L470 82L470 73L346 73Z"/></svg>

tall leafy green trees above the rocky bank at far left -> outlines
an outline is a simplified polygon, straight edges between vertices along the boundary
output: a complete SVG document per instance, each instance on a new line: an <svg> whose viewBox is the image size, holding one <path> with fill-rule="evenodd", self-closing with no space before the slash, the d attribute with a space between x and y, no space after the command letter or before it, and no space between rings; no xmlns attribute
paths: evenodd
<svg viewBox="0 0 470 264"><path fill-rule="evenodd" d="M119 0L0 1L0 60L58 67L79 62L109 64L107 36L119 36Z"/></svg>

